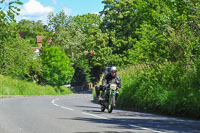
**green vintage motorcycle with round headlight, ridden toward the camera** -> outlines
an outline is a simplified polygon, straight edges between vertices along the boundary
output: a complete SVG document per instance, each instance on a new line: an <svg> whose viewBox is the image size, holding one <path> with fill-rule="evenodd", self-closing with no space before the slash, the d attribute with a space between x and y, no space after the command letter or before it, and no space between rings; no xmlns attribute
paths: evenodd
<svg viewBox="0 0 200 133"><path fill-rule="evenodd" d="M107 109L108 113L112 113L112 110L115 107L116 93L116 84L110 84L109 87L105 88L105 90L101 94L101 97L103 98L103 100L100 102L101 112L104 112L105 109Z"/></svg>

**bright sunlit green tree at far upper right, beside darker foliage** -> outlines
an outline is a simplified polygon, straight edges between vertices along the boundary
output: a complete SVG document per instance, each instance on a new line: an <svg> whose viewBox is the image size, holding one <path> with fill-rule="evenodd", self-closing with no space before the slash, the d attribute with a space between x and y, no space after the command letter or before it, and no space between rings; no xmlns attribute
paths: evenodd
<svg viewBox="0 0 200 133"><path fill-rule="evenodd" d="M154 5L146 6L146 14L150 14L151 19L144 20L136 30L138 38L131 40L134 45L129 50L129 59L187 62L199 56L199 2L147 1Z"/></svg>

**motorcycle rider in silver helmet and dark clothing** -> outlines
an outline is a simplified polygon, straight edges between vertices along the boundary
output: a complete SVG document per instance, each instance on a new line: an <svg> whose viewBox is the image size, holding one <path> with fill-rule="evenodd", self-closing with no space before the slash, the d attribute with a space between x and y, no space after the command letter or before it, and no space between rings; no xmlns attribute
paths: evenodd
<svg viewBox="0 0 200 133"><path fill-rule="evenodd" d="M109 87L109 84L114 83L117 84L117 89L121 88L121 79L117 75L117 68L115 66L110 67L110 72L108 74L105 74L102 80L101 86L96 86L96 96L98 98L98 102L100 103L101 100L103 100L100 96L100 91L104 91L107 87ZM116 100L118 97L118 91L116 93Z"/></svg>

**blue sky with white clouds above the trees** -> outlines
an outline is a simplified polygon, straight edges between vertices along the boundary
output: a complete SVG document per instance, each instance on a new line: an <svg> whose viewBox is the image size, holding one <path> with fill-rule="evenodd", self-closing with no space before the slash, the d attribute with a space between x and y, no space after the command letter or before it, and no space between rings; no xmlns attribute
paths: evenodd
<svg viewBox="0 0 200 133"><path fill-rule="evenodd" d="M43 20L49 12L58 13L64 10L68 16L76 16L87 13L98 13L103 10L102 0L20 0L23 6L20 6L20 15L16 17L17 21L21 19Z"/></svg>

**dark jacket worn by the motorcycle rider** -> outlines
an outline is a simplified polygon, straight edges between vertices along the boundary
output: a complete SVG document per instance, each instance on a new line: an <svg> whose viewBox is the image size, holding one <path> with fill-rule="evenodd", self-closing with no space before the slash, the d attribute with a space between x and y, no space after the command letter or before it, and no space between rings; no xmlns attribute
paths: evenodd
<svg viewBox="0 0 200 133"><path fill-rule="evenodd" d="M118 88L121 88L121 79L120 77L116 74L114 77L109 73L107 75L105 75L103 77L103 80L102 80L102 85L103 86L106 86L110 83L115 83L117 84L117 87Z"/></svg>

